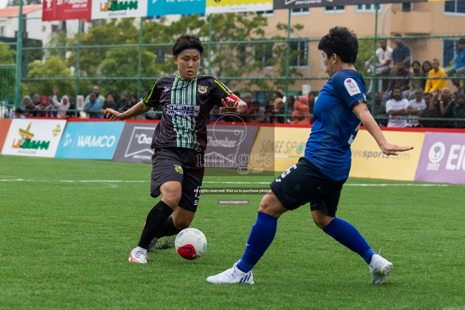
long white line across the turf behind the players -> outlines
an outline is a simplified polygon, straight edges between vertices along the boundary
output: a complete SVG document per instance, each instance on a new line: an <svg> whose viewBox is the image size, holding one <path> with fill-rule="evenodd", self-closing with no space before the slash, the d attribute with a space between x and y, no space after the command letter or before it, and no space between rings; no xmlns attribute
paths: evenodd
<svg viewBox="0 0 465 310"><path fill-rule="evenodd" d="M125 180L28 180L28 179L0 179L0 182L23 181L23 182L69 182L69 183L145 183L150 181L125 181ZM203 181L202 184L270 184L270 182L215 182ZM449 186L449 184L344 184L345 186Z"/></svg>

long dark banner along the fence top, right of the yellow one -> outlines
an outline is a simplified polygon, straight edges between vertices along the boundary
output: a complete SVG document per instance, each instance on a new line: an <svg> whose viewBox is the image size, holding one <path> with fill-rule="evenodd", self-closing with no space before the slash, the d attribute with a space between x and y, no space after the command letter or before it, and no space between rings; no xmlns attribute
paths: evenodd
<svg viewBox="0 0 465 310"><path fill-rule="evenodd" d="M401 0L397 2L425 2L426 0ZM273 9L293 9L301 7L335 7L359 4L392 3L390 0L274 0ZM382 13L380 11L379 13Z"/></svg>

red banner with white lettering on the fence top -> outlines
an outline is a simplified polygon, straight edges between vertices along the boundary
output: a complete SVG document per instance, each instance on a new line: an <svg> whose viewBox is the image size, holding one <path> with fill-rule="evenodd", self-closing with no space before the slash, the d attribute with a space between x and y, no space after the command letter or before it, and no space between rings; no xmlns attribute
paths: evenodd
<svg viewBox="0 0 465 310"><path fill-rule="evenodd" d="M44 0L42 20L86 20L91 9L92 0Z"/></svg>

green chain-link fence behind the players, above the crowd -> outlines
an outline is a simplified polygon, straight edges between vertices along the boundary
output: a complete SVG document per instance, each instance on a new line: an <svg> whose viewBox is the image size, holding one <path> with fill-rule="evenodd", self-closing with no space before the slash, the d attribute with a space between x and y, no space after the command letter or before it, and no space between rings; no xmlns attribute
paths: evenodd
<svg viewBox="0 0 465 310"><path fill-rule="evenodd" d="M368 6L373 12L367 10ZM103 95L111 90L116 90L118 95L121 91L126 91L129 95L136 94L137 99L140 99L144 90L153 86L159 76L176 71L171 59L171 48L179 34L189 32L198 35L205 46L199 73L214 75L242 95L252 92L254 99L260 101L261 105L266 104L266 99L272 96L273 91L282 92L287 99L286 104L290 104L292 97L298 99L302 92L312 91L318 95L318 91L328 80L317 46L319 38L327 33L329 26L318 31L313 29L317 28L318 25L315 24L319 23L320 17L317 14L321 14L321 18L325 20L332 20L337 16L338 25L347 26L359 34L359 56L355 66L364 75L369 91L367 101L373 115L380 124L385 124L388 116L382 105L390 99L390 91L396 80L405 81L406 88L403 91L406 93L407 90L412 90L412 86L420 85L423 88L428 79L426 73L397 77L392 76L397 70L394 67L377 74L373 68L365 66L365 62L371 57L375 57L373 64L379 62L375 52L380 46L381 36L387 40L387 46L395 48L395 41L399 40L399 37L393 34L401 31L402 27L396 28L398 30L391 27L387 32L389 35L384 36L386 12L394 16L395 7L396 5L392 8L388 5L384 8L362 5L342 7L343 12L341 7L323 7L312 8L311 12L310 9L294 9L212 14L205 18L185 16L172 24L163 18L93 21L93 28L88 33L79 31L71 39L66 38L66 35L56 35L48 46L21 47L22 43L18 43L18 59L31 59L32 54L37 54L38 51L44 55L41 55L42 62L36 60L27 64L27 73L16 75L15 80L20 79L22 88L19 83L16 84L17 96L10 97L9 100L14 102L15 106L19 106L20 98L26 93L51 95L53 87L60 89L60 95L68 94L70 98L78 100L79 95L85 98L93 85L100 86ZM403 12L404 5L400 7ZM389 8L392 12L388 11ZM354 20L353 16L357 15L352 14L351 10L355 13L370 14L359 15L363 16L364 29L357 29L359 20ZM284 12L287 15L286 19L283 18ZM83 28L82 23L79 21L80 30ZM367 23L371 23L372 26L366 26ZM395 23L395 20L391 20L391 23ZM448 35L405 34L409 34L406 28L400 40L411 51L410 63L417 60L420 67L424 67L427 66L424 65L425 61L439 59L441 67L445 70L452 67L454 52L457 51L458 39L461 37L460 31ZM17 67L21 65L17 63ZM431 80L434 79L444 78ZM458 88L463 90L462 79L460 76L447 77L446 85L452 95L457 85L452 81L458 81ZM378 96L384 95L381 103L375 100L376 92L380 92ZM412 96L414 92L409 92L407 97L412 99ZM429 110L431 99L426 101L426 110ZM455 105L455 101L452 104ZM431 106L434 107L434 104ZM440 107L434 108L437 110L436 115L420 115L422 125L454 127L458 121L464 120L454 118L451 114L442 114ZM73 112L74 115L79 115L77 107ZM275 116L283 116L286 121L291 122L290 113L292 106L285 109L284 114Z"/></svg>

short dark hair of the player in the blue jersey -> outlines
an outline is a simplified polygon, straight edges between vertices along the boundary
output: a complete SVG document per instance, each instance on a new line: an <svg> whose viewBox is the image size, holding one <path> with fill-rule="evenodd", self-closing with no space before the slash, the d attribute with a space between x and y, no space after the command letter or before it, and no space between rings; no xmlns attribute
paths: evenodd
<svg viewBox="0 0 465 310"><path fill-rule="evenodd" d="M348 64L355 63L359 52L359 41L357 35L346 27L336 26L321 38L318 49L331 56L338 55L341 60Z"/></svg>

